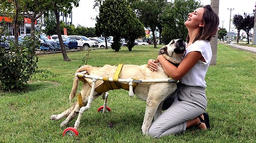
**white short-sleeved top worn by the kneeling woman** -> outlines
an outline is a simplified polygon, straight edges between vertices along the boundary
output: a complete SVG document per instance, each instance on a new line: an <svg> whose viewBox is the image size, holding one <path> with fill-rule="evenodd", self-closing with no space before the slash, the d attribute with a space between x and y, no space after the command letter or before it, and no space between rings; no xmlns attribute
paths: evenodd
<svg viewBox="0 0 256 143"><path fill-rule="evenodd" d="M211 61L211 47L210 43L205 40L196 41L190 46L186 48L186 52L184 54L184 57L187 55L187 53L191 51L199 51L201 52L204 60L206 62L202 62L199 60L196 65L191 68L187 74L185 74L181 79L180 82L186 85L190 86L199 86L199 87L206 87L206 81L205 74L207 72L207 69L209 67L210 61Z"/></svg>

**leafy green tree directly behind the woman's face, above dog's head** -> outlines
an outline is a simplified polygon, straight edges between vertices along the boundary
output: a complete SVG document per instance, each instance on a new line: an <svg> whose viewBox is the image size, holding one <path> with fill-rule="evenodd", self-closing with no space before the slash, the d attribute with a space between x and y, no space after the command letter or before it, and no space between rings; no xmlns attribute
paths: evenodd
<svg viewBox="0 0 256 143"><path fill-rule="evenodd" d="M187 14L195 9L202 7L201 3L195 0L177 0L169 3L160 15L163 23L162 37L168 43L172 39L186 39L187 28L184 21L187 20Z"/></svg>

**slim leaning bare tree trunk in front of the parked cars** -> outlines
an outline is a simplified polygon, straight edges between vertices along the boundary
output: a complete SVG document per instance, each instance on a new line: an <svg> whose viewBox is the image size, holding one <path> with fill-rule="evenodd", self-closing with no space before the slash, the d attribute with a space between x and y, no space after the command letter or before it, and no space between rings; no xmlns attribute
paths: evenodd
<svg viewBox="0 0 256 143"><path fill-rule="evenodd" d="M56 4L56 3L54 4L54 7L55 7L55 8L57 7L57 4ZM66 50L65 50L62 37L61 37L61 33L60 33L60 22L59 22L59 14L58 14L58 10L57 10L57 9L54 9L54 14L55 14L55 17L56 17L57 35L58 35L58 38L59 38L59 44L60 44L60 49L61 49L62 56L63 56L63 61L70 61L70 59L69 59L69 57L68 57L68 55L67 55L67 52L66 52Z"/></svg>

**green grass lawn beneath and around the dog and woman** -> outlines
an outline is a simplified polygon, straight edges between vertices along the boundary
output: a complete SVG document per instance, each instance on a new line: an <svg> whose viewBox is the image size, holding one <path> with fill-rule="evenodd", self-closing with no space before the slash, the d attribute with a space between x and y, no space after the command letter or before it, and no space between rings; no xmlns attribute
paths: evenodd
<svg viewBox="0 0 256 143"><path fill-rule="evenodd" d="M92 50L88 65L147 64L158 50L152 45L135 46L131 52L126 47L119 52ZM0 142L255 142L256 55L222 44L218 45L217 65L210 66L206 75L210 130L190 128L160 139L142 135L145 102L115 90L109 92L111 112L97 113L103 100L95 99L83 113L78 137L62 137L66 127L59 124L63 120L50 121L50 116L76 101L69 101L69 93L74 73L87 53L69 52L71 62L64 62L61 53L39 55L37 65L50 71L47 77L36 75L21 93L0 93ZM108 127L110 122L113 128Z"/></svg>

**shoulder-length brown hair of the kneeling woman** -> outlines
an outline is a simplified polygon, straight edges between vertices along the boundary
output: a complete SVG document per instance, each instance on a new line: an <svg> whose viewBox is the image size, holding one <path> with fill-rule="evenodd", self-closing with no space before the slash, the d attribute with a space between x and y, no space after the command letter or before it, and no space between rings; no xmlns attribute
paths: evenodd
<svg viewBox="0 0 256 143"><path fill-rule="evenodd" d="M215 13L210 5L206 5L204 8L203 22L204 26L201 27L200 34L194 39L192 43L198 40L211 41L218 31L219 16ZM186 38L187 43L189 42L189 35Z"/></svg>

